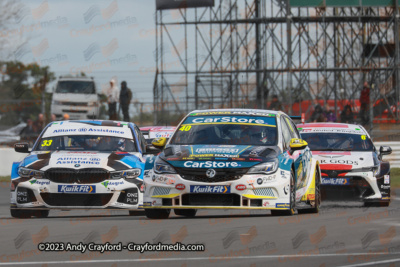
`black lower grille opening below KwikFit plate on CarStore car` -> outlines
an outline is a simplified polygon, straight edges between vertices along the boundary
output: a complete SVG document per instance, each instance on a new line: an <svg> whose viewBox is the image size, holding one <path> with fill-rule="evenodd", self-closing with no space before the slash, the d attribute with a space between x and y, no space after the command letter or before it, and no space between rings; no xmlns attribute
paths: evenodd
<svg viewBox="0 0 400 267"><path fill-rule="evenodd" d="M183 206L240 206L237 194L184 194Z"/></svg>

